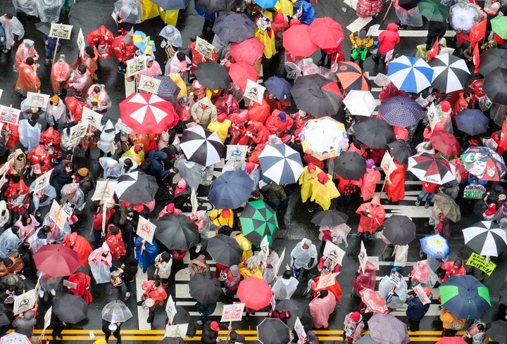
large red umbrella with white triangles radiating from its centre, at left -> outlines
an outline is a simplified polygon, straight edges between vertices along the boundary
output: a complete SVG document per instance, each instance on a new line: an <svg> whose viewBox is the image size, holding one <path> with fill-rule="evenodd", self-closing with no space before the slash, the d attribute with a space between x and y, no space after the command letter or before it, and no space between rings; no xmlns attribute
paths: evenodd
<svg viewBox="0 0 507 344"><path fill-rule="evenodd" d="M133 93L120 103L123 123L137 134L158 134L173 125L177 114L173 104L156 94Z"/></svg>

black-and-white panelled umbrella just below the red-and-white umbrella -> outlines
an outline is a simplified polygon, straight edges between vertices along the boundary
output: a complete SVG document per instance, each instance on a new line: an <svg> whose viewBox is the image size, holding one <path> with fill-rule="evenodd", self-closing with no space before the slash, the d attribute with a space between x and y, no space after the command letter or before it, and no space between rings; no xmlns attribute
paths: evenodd
<svg viewBox="0 0 507 344"><path fill-rule="evenodd" d="M187 160L204 167L220 163L225 155L225 146L218 134L201 125L183 130L180 147Z"/></svg>

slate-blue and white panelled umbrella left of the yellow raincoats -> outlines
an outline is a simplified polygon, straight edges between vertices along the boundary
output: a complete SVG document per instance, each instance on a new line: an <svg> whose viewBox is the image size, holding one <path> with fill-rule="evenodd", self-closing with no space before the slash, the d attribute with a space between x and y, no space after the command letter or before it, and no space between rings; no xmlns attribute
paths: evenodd
<svg viewBox="0 0 507 344"><path fill-rule="evenodd" d="M264 177L276 184L292 184L303 173L301 155L286 144L266 145L258 156Z"/></svg>

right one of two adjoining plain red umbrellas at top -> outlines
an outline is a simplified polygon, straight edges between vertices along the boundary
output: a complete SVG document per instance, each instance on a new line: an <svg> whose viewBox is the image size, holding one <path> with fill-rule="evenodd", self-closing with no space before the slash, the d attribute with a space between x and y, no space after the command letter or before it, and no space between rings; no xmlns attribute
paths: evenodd
<svg viewBox="0 0 507 344"><path fill-rule="evenodd" d="M336 48L345 39L342 25L330 17L317 18L308 27L310 40L322 49Z"/></svg>

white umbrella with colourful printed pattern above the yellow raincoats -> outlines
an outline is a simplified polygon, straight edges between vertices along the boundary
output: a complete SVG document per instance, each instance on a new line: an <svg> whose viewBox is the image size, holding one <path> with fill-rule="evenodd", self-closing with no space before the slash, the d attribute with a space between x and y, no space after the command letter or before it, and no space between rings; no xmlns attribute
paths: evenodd
<svg viewBox="0 0 507 344"><path fill-rule="evenodd" d="M306 121L299 138L303 152L318 160L335 158L349 147L343 123L327 116Z"/></svg>

